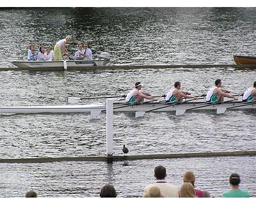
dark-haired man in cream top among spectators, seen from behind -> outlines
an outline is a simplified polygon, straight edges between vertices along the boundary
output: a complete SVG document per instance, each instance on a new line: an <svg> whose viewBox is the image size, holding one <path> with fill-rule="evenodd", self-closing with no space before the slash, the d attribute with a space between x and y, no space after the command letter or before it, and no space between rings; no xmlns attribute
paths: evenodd
<svg viewBox="0 0 256 204"><path fill-rule="evenodd" d="M155 184L150 184L145 187L143 192L143 197L147 197L150 194L150 189L152 187L158 187L160 189L160 194L164 198L178 198L179 197L179 188L173 184L168 184L165 180L166 178L166 169L164 166L156 166L154 170L154 177L156 178Z"/></svg>

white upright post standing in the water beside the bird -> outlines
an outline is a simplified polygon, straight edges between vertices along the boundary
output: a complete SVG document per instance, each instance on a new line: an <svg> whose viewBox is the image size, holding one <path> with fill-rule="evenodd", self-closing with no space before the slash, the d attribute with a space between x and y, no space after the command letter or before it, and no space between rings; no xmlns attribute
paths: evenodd
<svg viewBox="0 0 256 204"><path fill-rule="evenodd" d="M106 132L107 132L107 156L113 156L113 101L106 99Z"/></svg>

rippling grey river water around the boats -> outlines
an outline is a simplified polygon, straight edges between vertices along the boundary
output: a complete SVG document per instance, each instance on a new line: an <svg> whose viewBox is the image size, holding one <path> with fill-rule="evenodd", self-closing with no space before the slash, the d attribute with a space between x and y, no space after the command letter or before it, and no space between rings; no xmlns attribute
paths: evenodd
<svg viewBox="0 0 256 204"><path fill-rule="evenodd" d="M232 54L253 55L255 8L36 8L0 10L1 68L26 59L28 44L45 47L67 34L68 50L87 40L93 54L111 53L109 64L232 64ZM177 80L182 88L203 94L216 78L232 93L255 81L254 69L127 69L95 71L0 71L0 105L63 105L68 96L127 94L134 82L164 94ZM95 100L81 101L93 103ZM114 154L255 150L255 111L115 113ZM106 114L88 121L87 113L0 115L0 157L102 156L106 153ZM255 156L155 159L115 162L0 164L0 197L99 196L113 184L120 197L140 197L154 182L154 166L166 166L168 182L182 184L192 170L196 187L220 197L228 175L241 175L241 188L256 196Z"/></svg>

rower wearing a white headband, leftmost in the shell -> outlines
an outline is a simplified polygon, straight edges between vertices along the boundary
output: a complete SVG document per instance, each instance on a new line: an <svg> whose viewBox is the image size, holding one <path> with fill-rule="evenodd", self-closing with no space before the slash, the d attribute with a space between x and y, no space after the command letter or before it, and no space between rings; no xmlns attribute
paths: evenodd
<svg viewBox="0 0 256 204"><path fill-rule="evenodd" d="M144 99L154 99L157 101L157 99L153 98L151 94L141 91L141 87L142 84L140 82L136 82L134 89L127 94L125 101L131 104L143 103Z"/></svg>

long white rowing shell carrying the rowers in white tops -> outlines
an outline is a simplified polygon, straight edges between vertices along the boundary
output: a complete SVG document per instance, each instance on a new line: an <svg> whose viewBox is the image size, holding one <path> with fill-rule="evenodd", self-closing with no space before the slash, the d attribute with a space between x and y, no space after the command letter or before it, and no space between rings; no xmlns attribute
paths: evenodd
<svg viewBox="0 0 256 204"><path fill-rule="evenodd" d="M216 110L219 108L232 108L232 106L237 106L241 102L230 102L223 104L216 104L197 108L197 110ZM196 106L202 106L202 102L189 102L182 105L172 105L166 108L161 108L161 106L166 106L166 103L153 102L143 105L125 106L124 103L114 103L114 112L138 112L138 111L148 111L152 108L159 108L153 112L174 112L179 109L189 109ZM161 109L160 109L161 108ZM255 109L256 104L234 107L236 110L243 109ZM0 107L0 113L81 113L81 112L91 112L91 111L102 111L106 110L105 103L92 103L90 105L54 105L54 106L2 106Z"/></svg>

